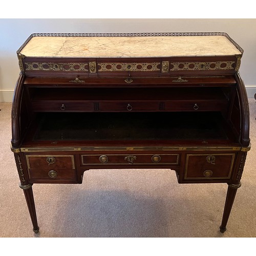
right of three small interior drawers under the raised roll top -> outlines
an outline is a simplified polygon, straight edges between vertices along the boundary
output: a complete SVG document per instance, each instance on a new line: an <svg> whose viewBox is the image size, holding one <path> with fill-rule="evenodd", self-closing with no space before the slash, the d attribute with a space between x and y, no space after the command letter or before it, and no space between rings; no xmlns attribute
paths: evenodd
<svg viewBox="0 0 256 256"><path fill-rule="evenodd" d="M184 110L184 111L221 111L226 110L225 100L172 100L166 101L165 110Z"/></svg>

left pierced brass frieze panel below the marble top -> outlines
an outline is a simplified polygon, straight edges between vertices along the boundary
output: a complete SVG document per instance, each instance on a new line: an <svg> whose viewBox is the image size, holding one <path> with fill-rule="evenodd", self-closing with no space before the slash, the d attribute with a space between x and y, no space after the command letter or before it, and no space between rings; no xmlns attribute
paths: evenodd
<svg viewBox="0 0 256 256"><path fill-rule="evenodd" d="M25 62L25 71L85 71L88 63Z"/></svg>

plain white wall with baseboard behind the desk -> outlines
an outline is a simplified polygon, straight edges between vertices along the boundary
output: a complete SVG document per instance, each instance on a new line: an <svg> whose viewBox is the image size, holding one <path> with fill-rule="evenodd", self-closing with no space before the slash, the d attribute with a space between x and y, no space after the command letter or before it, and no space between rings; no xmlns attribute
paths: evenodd
<svg viewBox="0 0 256 256"><path fill-rule="evenodd" d="M32 33L226 32L243 49L240 73L256 93L256 19L0 19L0 102L11 101L19 73L16 51Z"/></svg>

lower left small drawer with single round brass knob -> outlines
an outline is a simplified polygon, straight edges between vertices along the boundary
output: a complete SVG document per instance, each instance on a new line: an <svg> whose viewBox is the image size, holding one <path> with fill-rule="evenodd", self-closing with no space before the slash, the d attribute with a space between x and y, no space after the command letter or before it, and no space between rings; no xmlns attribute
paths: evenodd
<svg viewBox="0 0 256 256"><path fill-rule="evenodd" d="M30 179L32 181L44 180L48 183L57 181L76 181L76 170L67 168L32 168L29 169Z"/></svg>

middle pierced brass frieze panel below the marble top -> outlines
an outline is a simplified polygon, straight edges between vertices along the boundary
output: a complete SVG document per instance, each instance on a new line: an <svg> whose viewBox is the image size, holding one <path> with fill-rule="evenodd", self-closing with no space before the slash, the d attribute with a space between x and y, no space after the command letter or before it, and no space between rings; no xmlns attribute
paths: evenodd
<svg viewBox="0 0 256 256"><path fill-rule="evenodd" d="M152 63L98 63L99 72L113 71L160 71L160 62Z"/></svg>

